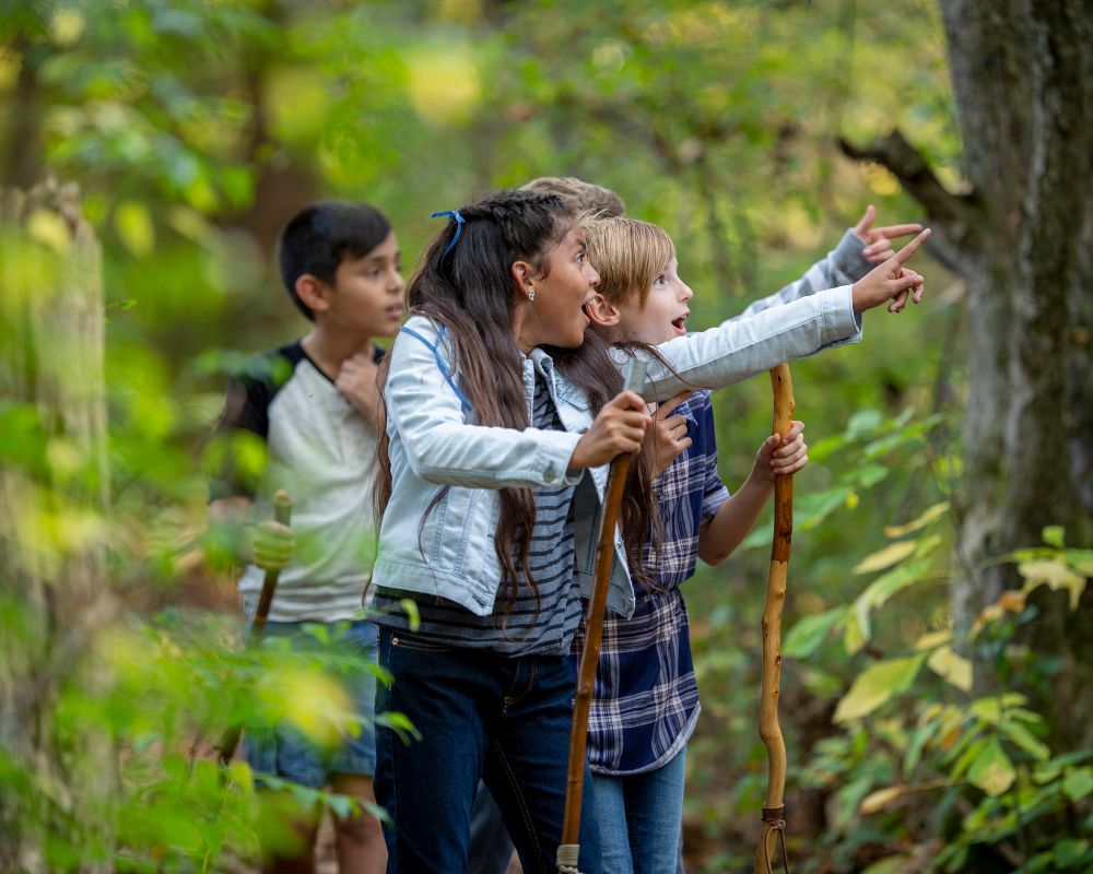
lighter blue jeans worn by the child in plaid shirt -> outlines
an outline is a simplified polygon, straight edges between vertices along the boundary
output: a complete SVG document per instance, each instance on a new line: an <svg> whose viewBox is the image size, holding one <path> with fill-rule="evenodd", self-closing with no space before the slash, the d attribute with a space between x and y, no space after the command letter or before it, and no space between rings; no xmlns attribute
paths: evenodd
<svg viewBox="0 0 1093 874"><path fill-rule="evenodd" d="M653 771L592 776L603 874L675 874L686 748Z"/></svg>

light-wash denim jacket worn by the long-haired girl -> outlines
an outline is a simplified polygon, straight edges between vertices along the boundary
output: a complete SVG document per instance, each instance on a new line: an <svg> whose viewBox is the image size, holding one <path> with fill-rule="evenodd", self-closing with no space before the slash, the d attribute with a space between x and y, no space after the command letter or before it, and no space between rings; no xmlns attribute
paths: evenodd
<svg viewBox="0 0 1093 874"><path fill-rule="evenodd" d="M650 361L642 394L665 400L684 388L721 388L785 361L857 342L861 322L853 312L850 287L819 290L868 272L861 246L848 233L792 285L716 328L659 346L671 369ZM444 326L412 316L389 354L384 401L391 498L380 523L373 581L489 615L501 583L494 553L498 489L565 483L576 486L576 566L581 590L589 594L608 466L590 469L588 476L568 470L580 435L592 424L585 392L554 369L546 353L532 350L522 361L529 420L538 369L565 430L483 426L461 389ZM445 485L450 487L430 509ZM608 605L628 616L634 590L618 530L614 545Z"/></svg>

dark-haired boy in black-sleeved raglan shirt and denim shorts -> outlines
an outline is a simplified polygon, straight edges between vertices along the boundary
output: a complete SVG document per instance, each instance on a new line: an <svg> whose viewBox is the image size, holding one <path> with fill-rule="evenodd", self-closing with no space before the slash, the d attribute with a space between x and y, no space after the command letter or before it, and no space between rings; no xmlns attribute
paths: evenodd
<svg viewBox="0 0 1093 874"><path fill-rule="evenodd" d="M290 297L313 327L302 340L257 356L232 380L221 430L233 448L260 440L265 464L250 476L242 464L223 466L211 486L210 522L226 532L246 565L239 590L249 617L265 570L281 570L266 637L287 638L301 649L330 640L361 665L331 680L352 699L365 728L324 749L285 720L249 731L247 757L259 773L329 786L374 804L376 628L364 619L363 595L375 558L375 377L383 352L372 338L399 330L398 240L372 206L316 203L285 226L278 261ZM293 503L292 528L251 521L270 518L270 498L280 488ZM327 630L306 627L316 625ZM263 795L277 801L271 808L283 806L272 793ZM271 841L263 870L313 871L319 814L294 815L289 825L298 835L296 846L286 851ZM375 817L337 819L336 831L342 872L385 870L387 851Z"/></svg>

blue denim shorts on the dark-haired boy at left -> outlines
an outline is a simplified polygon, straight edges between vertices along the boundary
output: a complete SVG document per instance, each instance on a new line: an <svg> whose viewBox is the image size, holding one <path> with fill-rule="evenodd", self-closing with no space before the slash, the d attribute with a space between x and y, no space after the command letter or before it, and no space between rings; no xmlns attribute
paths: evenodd
<svg viewBox="0 0 1093 874"><path fill-rule="evenodd" d="M326 625L330 642L325 645L304 630L305 625ZM376 626L371 622L266 624L263 638L289 638L293 649L305 651L349 652L360 657L361 670L331 674L353 700L356 716L365 720L360 734L344 735L330 749L313 744L286 720L272 727L247 729L247 761L258 773L269 773L302 786L319 789L330 784L331 775L371 777L376 770L376 737L372 724L376 702L376 675L366 665L375 665Z"/></svg>

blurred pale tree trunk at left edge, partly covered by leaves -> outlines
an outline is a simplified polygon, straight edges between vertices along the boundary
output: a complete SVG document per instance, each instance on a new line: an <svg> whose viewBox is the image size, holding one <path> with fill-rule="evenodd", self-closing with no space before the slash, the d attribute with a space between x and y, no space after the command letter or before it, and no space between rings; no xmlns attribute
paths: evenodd
<svg viewBox="0 0 1093 874"><path fill-rule="evenodd" d="M110 741L57 713L98 682L109 611L101 253L74 189L0 191L0 869L105 871Z"/></svg>

